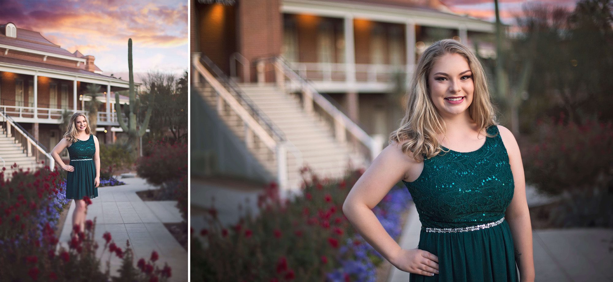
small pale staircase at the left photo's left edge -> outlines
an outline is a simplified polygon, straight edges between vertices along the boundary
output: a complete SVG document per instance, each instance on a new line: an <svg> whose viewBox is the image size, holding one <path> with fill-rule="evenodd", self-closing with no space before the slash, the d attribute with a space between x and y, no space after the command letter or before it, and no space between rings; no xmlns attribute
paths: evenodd
<svg viewBox="0 0 613 282"><path fill-rule="evenodd" d="M23 170L36 170L38 167L42 167L42 164L36 163L36 157L28 156L23 150L23 146L15 140L15 137L6 136L6 128L4 123L0 123L0 169L2 166L6 167L4 171L5 178L9 177L13 171L18 169ZM4 161L4 162L2 162ZM17 164L17 169L10 167L13 164Z"/></svg>

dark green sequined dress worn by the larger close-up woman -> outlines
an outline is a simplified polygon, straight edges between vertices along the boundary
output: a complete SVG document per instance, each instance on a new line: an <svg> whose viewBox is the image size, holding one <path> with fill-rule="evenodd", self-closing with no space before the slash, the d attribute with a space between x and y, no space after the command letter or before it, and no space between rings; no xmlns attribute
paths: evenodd
<svg viewBox="0 0 613 282"><path fill-rule="evenodd" d="M434 276L410 273L411 282L519 280L504 219L514 192L509 156L498 127L487 132L495 137L476 151L441 146L415 181L403 181L422 223L417 248L438 256L439 265Z"/></svg>

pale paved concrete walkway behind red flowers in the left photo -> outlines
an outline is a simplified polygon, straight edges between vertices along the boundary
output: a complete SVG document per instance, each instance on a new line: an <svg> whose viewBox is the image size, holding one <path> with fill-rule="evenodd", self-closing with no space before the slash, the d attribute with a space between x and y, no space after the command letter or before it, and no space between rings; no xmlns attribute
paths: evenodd
<svg viewBox="0 0 613 282"><path fill-rule="evenodd" d="M98 188L98 197L92 199L93 204L88 207L87 219L96 218L95 238L99 245L104 245L102 235L110 232L115 244L125 250L126 240L134 250L134 262L141 257L148 260L151 251L157 251L159 260L156 265L164 267L164 262L172 267L170 281L188 281L188 254L177 240L170 234L162 223L180 223L183 221L176 201L143 202L136 191L156 189L148 185L142 178L121 178L126 185ZM72 230L72 212L74 201L70 210L59 242L67 248L67 242ZM99 248L98 254L102 253ZM105 270L109 252L106 251L101 259L101 268ZM112 256L110 261L111 273L116 275L121 259Z"/></svg>

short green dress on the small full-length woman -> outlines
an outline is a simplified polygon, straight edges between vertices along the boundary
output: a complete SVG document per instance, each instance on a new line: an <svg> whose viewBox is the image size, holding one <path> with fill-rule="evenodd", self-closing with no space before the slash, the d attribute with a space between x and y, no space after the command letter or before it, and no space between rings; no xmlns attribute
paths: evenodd
<svg viewBox="0 0 613 282"><path fill-rule="evenodd" d="M66 199L80 200L84 196L88 196L90 199L97 197L98 188L94 183L94 178L96 178L94 135L89 135L89 139L86 141L77 140L67 149L70 156L70 166L73 166L75 170L74 172L68 172L66 176Z"/></svg>

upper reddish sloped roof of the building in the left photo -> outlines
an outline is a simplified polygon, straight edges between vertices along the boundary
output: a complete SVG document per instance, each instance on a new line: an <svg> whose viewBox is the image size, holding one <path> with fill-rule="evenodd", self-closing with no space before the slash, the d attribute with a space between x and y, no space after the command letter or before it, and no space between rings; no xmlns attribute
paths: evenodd
<svg viewBox="0 0 613 282"><path fill-rule="evenodd" d="M6 26L6 24L0 26L0 44L79 58L73 53L59 47L59 45L51 43L40 35L40 32L17 28L17 38L7 37L6 34L4 34L4 26Z"/></svg>

